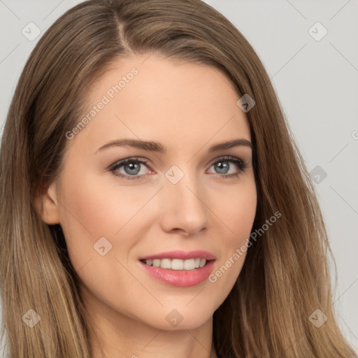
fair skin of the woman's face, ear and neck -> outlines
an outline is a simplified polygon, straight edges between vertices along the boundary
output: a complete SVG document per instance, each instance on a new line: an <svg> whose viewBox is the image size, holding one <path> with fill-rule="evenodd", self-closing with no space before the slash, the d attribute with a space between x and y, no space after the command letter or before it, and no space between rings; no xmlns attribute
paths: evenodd
<svg viewBox="0 0 358 358"><path fill-rule="evenodd" d="M41 196L42 217L64 231L106 357L215 358L213 313L236 282L245 253L215 282L190 287L152 278L138 258L206 250L216 257L215 273L245 244L257 205L252 150L247 145L209 149L238 138L251 141L250 127L224 73L147 57L113 62L92 85L87 113L122 76L138 70L113 99L106 94L109 103L67 142L62 172ZM122 138L155 141L166 152L128 145L99 150ZM218 166L227 156L247 168L241 171L227 159ZM132 162L140 169L135 174L128 165L108 169L127 158L148 163ZM165 176L174 165L184 174L176 184ZM233 173L239 174L222 178ZM101 237L112 245L103 256L94 249ZM166 320L173 310L182 317L175 327ZM92 358L103 357L93 337L91 344Z"/></svg>

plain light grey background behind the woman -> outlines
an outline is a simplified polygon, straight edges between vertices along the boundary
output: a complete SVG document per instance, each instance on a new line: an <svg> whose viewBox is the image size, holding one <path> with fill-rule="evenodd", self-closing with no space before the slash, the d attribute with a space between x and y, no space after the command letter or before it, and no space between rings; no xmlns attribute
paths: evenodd
<svg viewBox="0 0 358 358"><path fill-rule="evenodd" d="M0 0L0 134L30 51L59 15L80 2ZM358 350L358 1L206 2L248 38L278 93L316 181L337 264L334 308ZM41 29L34 41L22 34L29 22ZM316 22L328 31L323 38Z"/></svg>

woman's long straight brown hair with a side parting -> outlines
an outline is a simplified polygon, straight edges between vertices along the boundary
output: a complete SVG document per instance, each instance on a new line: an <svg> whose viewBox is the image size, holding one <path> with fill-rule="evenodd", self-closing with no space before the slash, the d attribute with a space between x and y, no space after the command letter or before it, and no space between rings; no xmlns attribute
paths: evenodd
<svg viewBox="0 0 358 358"><path fill-rule="evenodd" d="M85 94L115 59L157 52L215 66L248 94L257 213L252 231L281 213L248 249L213 316L217 355L354 357L332 308L327 233L312 182L262 62L243 35L200 0L90 0L38 41L17 84L1 143L0 268L3 329L16 358L87 358L90 324L62 229L34 198L61 170L66 131ZM41 317L31 329L27 316ZM310 320L319 309L327 321Z"/></svg>

